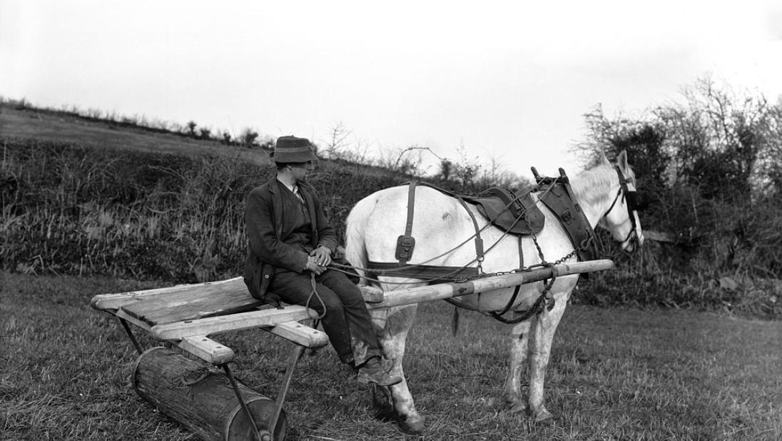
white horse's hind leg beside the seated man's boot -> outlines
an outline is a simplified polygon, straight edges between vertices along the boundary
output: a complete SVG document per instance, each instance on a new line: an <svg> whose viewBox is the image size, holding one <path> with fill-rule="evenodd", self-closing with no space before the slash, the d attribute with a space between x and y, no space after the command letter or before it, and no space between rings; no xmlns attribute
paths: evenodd
<svg viewBox="0 0 782 441"><path fill-rule="evenodd" d="M374 402L380 406L379 411L384 411L388 397L393 401L393 410L399 418L400 427L404 432L418 434L424 429L424 418L415 410L415 403L410 390L407 389L407 378L404 377L402 360L404 359L407 332L413 324L417 304L394 308L386 317L378 314L375 326L382 325L380 344L386 359L391 362L391 373L402 377L402 382L390 387L375 387ZM385 323L382 323L385 321Z"/></svg>

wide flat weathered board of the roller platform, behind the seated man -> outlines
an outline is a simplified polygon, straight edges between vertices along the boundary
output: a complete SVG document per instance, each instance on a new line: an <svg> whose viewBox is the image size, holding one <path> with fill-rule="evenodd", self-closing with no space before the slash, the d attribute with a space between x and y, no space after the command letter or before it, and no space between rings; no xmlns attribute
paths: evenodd
<svg viewBox="0 0 782 441"><path fill-rule="evenodd" d="M161 323L195 320L204 317L235 314L263 305L253 299L244 281L239 278L231 285L195 285L192 289L172 292L156 299L138 299L120 307L131 317L154 326Z"/></svg>

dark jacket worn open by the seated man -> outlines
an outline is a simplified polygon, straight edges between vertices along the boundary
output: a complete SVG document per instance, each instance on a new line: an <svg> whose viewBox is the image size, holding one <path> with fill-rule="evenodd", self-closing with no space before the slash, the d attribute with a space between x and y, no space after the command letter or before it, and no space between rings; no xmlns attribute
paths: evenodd
<svg viewBox="0 0 782 441"><path fill-rule="evenodd" d="M285 221L282 195L276 177L253 189L247 196L245 211L249 253L245 262L244 279L250 294L256 299L267 300L266 294L274 271L282 268L303 273L309 254L300 244L285 243L292 235L293 226ZM337 236L328 223L314 188L299 184L299 194L310 213L310 249L325 246L335 253Z"/></svg>

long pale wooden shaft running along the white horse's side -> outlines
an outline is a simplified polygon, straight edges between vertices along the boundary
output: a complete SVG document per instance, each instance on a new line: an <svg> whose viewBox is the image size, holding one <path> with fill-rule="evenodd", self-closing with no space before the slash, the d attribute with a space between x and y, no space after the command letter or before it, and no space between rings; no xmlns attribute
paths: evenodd
<svg viewBox="0 0 782 441"><path fill-rule="evenodd" d="M614 267L611 260L589 260L573 264L556 265L559 277L568 274L578 274L593 271L610 270ZM437 285L418 288L398 289L385 292L380 303L367 303L368 309L398 307L412 303L431 302L432 300L449 299L450 297L468 296L476 292L487 292L494 289L511 288L535 281L551 278L551 268L537 268L531 271L501 274L486 278L476 278L462 283L439 283Z"/></svg>

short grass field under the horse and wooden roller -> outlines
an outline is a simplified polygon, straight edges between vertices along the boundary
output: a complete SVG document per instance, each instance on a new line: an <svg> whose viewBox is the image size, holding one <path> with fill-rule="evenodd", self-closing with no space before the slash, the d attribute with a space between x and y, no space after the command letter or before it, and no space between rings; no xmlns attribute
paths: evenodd
<svg viewBox="0 0 782 441"><path fill-rule="evenodd" d="M139 398L120 325L92 296L160 286L112 278L0 273L0 438L195 439ZM553 425L500 399L508 328L421 307L405 361L421 439L780 439L782 323L677 310L572 305L547 372ZM260 331L217 335L235 373L276 394L289 344ZM149 346L153 342L142 339ZM303 358L285 407L288 439L404 439L373 418L368 390L330 348ZM415 437L407 437L414 439Z"/></svg>

